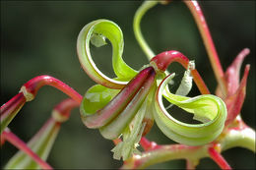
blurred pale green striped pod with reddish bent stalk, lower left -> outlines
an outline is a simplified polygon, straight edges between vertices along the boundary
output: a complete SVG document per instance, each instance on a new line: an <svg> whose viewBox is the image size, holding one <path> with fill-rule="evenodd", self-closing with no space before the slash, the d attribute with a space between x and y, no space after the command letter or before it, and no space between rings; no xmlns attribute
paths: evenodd
<svg viewBox="0 0 256 170"><path fill-rule="evenodd" d="M62 122L68 120L70 111L79 106L79 103L74 99L68 98L56 105L52 111L52 117L40 128L40 130L28 142L28 146L42 160L46 160L50 149L57 137ZM18 141L12 142L14 145L19 145ZM17 152L7 163L7 169L36 169L38 165L27 156L27 152Z"/></svg>

